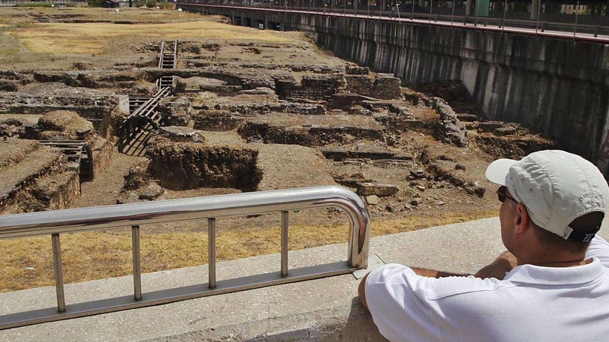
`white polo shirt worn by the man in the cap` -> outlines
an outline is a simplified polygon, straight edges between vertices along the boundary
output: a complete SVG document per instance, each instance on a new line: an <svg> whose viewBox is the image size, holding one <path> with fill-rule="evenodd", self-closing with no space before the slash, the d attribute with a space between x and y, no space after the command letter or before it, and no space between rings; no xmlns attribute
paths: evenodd
<svg viewBox="0 0 609 342"><path fill-rule="evenodd" d="M370 273L372 318L390 341L608 341L609 243L577 267L521 265L505 279L422 277L390 263Z"/></svg>

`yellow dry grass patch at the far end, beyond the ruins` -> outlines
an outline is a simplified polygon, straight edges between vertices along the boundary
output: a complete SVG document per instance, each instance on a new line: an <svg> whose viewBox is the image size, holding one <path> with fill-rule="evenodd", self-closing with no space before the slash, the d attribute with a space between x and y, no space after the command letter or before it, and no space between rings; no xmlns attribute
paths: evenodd
<svg viewBox="0 0 609 342"><path fill-rule="evenodd" d="M107 54L116 52L117 44L127 40L161 39L230 39L292 42L294 33L281 34L269 30L231 26L215 21L188 21L169 24L111 23L42 23L33 27L13 29L9 33L34 53Z"/></svg>

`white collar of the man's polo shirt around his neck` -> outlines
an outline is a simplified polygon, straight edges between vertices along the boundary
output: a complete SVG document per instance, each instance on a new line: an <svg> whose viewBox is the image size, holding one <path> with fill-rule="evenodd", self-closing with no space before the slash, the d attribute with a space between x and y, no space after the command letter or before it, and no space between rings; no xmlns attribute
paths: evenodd
<svg viewBox="0 0 609 342"><path fill-rule="evenodd" d="M577 285L594 281L604 272L605 267L600 260L592 257L591 263L573 267L519 265L505 274L504 281L538 285Z"/></svg>

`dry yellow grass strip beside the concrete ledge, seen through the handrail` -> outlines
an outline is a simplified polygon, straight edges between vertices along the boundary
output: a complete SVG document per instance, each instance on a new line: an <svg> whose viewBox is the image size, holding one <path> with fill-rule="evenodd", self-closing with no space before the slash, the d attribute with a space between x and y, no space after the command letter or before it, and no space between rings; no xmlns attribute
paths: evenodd
<svg viewBox="0 0 609 342"><path fill-rule="evenodd" d="M372 236L412 231L429 226L491 217L495 211L440 215L410 214L400 220L375 221ZM347 242L347 225L290 226L290 250ZM221 231L217 235L219 260L238 259L280 251L280 228ZM207 262L207 233L141 234L144 272L201 265ZM50 237L0 240L0 292L52 285ZM132 273L131 239L113 232L62 235L65 282L80 282ZM30 268L30 269L28 269Z"/></svg>

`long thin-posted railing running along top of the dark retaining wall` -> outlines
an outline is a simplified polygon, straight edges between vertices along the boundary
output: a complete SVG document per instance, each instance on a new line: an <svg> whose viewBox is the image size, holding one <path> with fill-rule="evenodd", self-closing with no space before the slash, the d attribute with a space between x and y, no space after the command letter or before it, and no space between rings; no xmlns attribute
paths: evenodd
<svg viewBox="0 0 609 342"><path fill-rule="evenodd" d="M317 2L317 5L315 4ZM322 2L323 3L323 2ZM576 37L578 34L609 35L609 17L606 16L584 16L584 15L545 15L538 13L537 19L524 19L521 13L510 18L510 12L504 11L503 16L482 16L473 13L465 15L463 10L458 12L449 11L440 7L424 9L417 5L400 5L398 7L381 7L379 5L341 4L328 2L327 5L320 5L319 0L287 0L276 2L248 2L248 1L225 1L225 0L180 0L178 4L217 4L228 5L231 7L247 7L253 9L280 9L303 12L316 12L328 14L359 15L374 18L390 19L415 19L428 21L428 23L451 23L454 25L468 27L487 27L498 28L512 27L522 29L532 29L535 32L543 33L546 31L557 31L571 33ZM447 13L448 12L448 13ZM475 11L474 11L475 12ZM495 11L497 12L497 11ZM493 13L495 15L495 13ZM588 18L586 18L588 17ZM592 18L590 18L592 17Z"/></svg>

